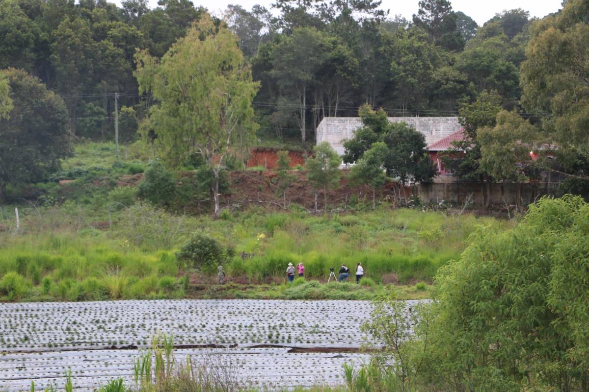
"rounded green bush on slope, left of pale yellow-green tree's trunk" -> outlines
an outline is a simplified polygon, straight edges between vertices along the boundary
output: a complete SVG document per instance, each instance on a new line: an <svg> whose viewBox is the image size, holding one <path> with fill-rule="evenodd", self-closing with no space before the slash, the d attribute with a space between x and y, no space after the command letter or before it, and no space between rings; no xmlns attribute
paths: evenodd
<svg viewBox="0 0 589 392"><path fill-rule="evenodd" d="M168 205L176 196L176 180L164 165L155 160L145 170L137 195L155 205Z"/></svg>

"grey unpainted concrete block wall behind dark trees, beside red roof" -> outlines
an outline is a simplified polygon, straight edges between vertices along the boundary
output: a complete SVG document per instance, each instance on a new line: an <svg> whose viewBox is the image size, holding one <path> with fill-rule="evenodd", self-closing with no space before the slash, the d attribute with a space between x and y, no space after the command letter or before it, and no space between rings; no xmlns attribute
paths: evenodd
<svg viewBox="0 0 589 392"><path fill-rule="evenodd" d="M458 117L389 117L391 122L406 122L425 136L426 145L431 145L452 135L461 125ZM353 137L362 126L359 117L325 117L317 126L317 143L328 142L339 155L343 155L343 139Z"/></svg>

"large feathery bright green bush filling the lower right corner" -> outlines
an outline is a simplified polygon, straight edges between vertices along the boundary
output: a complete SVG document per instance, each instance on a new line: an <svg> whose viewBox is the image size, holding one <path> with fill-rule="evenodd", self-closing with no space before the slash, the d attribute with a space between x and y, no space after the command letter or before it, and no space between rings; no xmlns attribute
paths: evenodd
<svg viewBox="0 0 589 392"><path fill-rule="evenodd" d="M438 271L423 356L436 389L586 389L588 222L580 197L545 197L508 232L478 230Z"/></svg>

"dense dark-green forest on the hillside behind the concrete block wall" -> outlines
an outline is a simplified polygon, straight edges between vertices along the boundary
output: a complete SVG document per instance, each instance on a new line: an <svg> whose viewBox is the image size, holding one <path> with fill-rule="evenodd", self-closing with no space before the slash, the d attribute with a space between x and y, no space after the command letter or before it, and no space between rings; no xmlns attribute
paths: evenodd
<svg viewBox="0 0 589 392"><path fill-rule="evenodd" d="M135 137L151 105L133 75L137 49L161 58L206 10L188 0L4 0L0 68L24 69L65 102L78 138L112 139L114 93L120 139ZM527 11L503 11L480 28L445 0L422 1L413 21L380 2L279 1L231 5L217 25L236 33L260 81L260 133L305 134L323 116L354 116L362 103L391 115L452 115L458 104L495 89L505 105L521 97L519 66L530 39Z"/></svg>

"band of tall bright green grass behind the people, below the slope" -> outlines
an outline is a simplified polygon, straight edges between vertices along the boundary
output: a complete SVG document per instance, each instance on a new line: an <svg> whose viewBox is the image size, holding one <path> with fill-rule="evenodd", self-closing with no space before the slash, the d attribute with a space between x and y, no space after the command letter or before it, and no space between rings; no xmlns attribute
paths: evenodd
<svg viewBox="0 0 589 392"><path fill-rule="evenodd" d="M499 232L512 225L407 209L329 217L254 208L214 220L138 204L113 215L111 227L97 230L85 223L90 218L72 219L71 211L87 213L84 206L67 203L24 209L21 233L0 233L0 297L183 296L187 284L177 277L186 267L174 252L194 232L231 249L226 272L250 283L275 282L289 262L305 264L305 276L314 279L325 279L330 267L338 270L342 263L353 275L362 263L365 276L377 283L388 282L383 279L388 276L401 283L427 282L440 266L459 258L475 230Z"/></svg>

